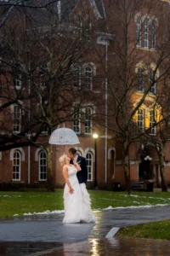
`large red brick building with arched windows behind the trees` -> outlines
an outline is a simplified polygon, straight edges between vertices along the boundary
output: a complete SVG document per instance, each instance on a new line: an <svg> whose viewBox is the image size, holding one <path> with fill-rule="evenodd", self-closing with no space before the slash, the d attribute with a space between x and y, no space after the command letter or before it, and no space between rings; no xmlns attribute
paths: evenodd
<svg viewBox="0 0 170 256"><path fill-rule="evenodd" d="M161 103L164 102L158 96L162 96L162 91L168 95L166 54L169 39L166 21L169 10L167 1L158 0L129 0L126 3L122 0L65 0L57 4L59 17L68 17L65 22L74 26L85 11L85 20L89 21L86 31L93 31L92 38L88 34L88 41L93 41L93 47L84 53L73 77L78 87L87 85L102 104L98 102L94 106L94 101L93 108L84 108L83 121L77 113L72 121L65 120L65 127L73 129L79 137L78 154L87 159L89 187L94 185L95 166L99 188L111 189L113 183L125 183L123 152L127 131L132 140L128 148L131 180L151 179L155 185L161 183L161 162L156 143L158 145L161 141L162 126L155 124L161 119ZM20 79L15 78L14 81L20 90ZM126 96L122 97L123 94ZM166 96L163 95L163 99ZM126 106L126 112L123 112L123 106ZM122 109L122 112L117 109ZM21 119L20 109L14 107L12 110L13 117ZM127 116L131 116L129 125ZM20 122L16 122L14 131L20 131L19 126ZM144 136L144 131L147 131L147 136ZM94 132L99 134L96 165ZM136 139L139 134L139 139ZM40 135L38 142L48 148L46 132ZM57 186L64 184L58 159L68 148L53 147L54 183ZM167 183L170 183L169 150L167 139L163 149ZM27 146L0 152L0 182L45 184L47 162L48 155L42 147Z"/></svg>

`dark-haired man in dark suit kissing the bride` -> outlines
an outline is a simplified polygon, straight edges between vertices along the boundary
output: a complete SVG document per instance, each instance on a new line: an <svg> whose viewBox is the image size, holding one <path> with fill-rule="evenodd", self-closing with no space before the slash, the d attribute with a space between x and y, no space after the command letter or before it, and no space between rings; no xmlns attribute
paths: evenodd
<svg viewBox="0 0 170 256"><path fill-rule="evenodd" d="M80 184L87 183L88 180L88 167L86 164L86 159L80 155L77 155L77 149L76 148L70 148L69 149L69 157L71 158L71 165L73 165L73 160L77 161L77 164L81 166L81 171L77 172L77 179Z"/></svg>

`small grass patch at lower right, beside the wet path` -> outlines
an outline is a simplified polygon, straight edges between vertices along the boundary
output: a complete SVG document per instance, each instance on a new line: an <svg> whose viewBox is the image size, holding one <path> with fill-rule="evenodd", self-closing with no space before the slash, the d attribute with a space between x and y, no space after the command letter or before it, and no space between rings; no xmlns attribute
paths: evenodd
<svg viewBox="0 0 170 256"><path fill-rule="evenodd" d="M170 220L129 226L120 230L116 237L143 237L170 240Z"/></svg>

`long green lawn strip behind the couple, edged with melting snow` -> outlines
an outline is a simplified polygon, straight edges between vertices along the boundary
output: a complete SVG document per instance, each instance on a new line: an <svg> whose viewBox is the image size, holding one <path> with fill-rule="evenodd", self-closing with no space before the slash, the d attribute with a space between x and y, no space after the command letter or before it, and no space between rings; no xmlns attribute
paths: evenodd
<svg viewBox="0 0 170 256"><path fill-rule="evenodd" d="M93 210L106 207L138 207L145 205L170 205L170 193L161 192L113 192L88 190ZM0 192L0 218L20 216L28 212L63 210L63 189L48 192Z"/></svg>

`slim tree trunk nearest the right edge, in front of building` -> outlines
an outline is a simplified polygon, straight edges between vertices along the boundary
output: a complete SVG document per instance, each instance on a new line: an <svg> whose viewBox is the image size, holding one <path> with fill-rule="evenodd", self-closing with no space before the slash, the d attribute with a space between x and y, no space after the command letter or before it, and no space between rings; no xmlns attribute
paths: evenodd
<svg viewBox="0 0 170 256"><path fill-rule="evenodd" d="M167 182L166 182L165 172L164 172L164 153L163 153L162 143L160 143L159 148L160 150L158 154L159 154L160 175L161 175L161 191L167 192Z"/></svg>

